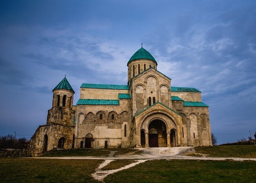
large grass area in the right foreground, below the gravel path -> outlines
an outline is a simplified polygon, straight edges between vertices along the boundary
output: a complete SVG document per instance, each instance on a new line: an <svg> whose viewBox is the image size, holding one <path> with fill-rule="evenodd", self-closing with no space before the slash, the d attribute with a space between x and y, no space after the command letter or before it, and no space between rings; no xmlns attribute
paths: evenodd
<svg viewBox="0 0 256 183"><path fill-rule="evenodd" d="M146 161L107 176L106 183L254 183L255 161Z"/></svg>

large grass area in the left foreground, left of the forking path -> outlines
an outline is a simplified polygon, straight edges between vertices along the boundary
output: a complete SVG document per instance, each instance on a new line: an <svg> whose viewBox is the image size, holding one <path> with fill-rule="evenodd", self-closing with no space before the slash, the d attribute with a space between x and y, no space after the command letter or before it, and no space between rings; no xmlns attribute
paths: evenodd
<svg viewBox="0 0 256 183"><path fill-rule="evenodd" d="M102 160L0 158L0 183L98 182L90 175Z"/></svg>

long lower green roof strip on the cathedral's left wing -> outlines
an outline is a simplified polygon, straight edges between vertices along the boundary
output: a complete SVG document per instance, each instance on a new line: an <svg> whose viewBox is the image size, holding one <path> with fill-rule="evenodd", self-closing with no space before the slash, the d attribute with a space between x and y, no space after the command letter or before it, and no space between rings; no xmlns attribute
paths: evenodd
<svg viewBox="0 0 256 183"><path fill-rule="evenodd" d="M119 100L101 100L101 99L79 99L76 105L108 105L118 106Z"/></svg>

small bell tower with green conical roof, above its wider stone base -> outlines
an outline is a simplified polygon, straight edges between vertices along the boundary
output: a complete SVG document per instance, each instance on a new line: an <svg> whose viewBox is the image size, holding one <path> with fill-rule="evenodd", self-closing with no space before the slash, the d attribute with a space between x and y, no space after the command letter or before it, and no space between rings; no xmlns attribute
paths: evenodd
<svg viewBox="0 0 256 183"><path fill-rule="evenodd" d="M74 126L75 111L72 110L72 105L75 92L66 76L52 92L52 108L48 110L47 124Z"/></svg>

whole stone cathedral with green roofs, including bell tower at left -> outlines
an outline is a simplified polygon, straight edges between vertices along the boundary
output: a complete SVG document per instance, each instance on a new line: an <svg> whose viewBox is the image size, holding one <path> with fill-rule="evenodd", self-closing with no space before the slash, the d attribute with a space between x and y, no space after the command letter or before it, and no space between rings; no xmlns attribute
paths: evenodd
<svg viewBox="0 0 256 183"><path fill-rule="evenodd" d="M65 77L53 89L47 122L30 141L32 156L69 148L211 146L209 106L196 88L171 86L141 47L127 63L128 84L88 84Z"/></svg>

